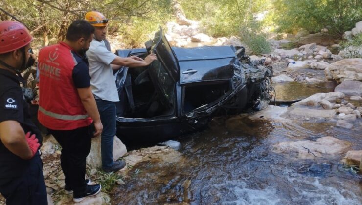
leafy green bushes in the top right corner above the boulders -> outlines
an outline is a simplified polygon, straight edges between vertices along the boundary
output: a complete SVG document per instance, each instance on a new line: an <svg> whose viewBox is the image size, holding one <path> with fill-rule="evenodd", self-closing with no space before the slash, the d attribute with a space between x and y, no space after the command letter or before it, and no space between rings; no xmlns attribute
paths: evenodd
<svg viewBox="0 0 362 205"><path fill-rule="evenodd" d="M327 28L341 36L362 20L362 0L274 0L273 16L279 32Z"/></svg>

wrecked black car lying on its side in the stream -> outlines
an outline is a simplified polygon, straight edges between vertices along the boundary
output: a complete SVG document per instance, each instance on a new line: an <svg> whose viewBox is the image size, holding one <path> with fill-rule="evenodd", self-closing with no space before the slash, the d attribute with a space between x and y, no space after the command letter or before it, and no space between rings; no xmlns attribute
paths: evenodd
<svg viewBox="0 0 362 205"><path fill-rule="evenodd" d="M116 55L158 60L114 75L120 102L117 136L124 143L158 142L206 127L212 117L261 110L271 101L271 66L250 61L243 47L171 47L162 29L146 48Z"/></svg>

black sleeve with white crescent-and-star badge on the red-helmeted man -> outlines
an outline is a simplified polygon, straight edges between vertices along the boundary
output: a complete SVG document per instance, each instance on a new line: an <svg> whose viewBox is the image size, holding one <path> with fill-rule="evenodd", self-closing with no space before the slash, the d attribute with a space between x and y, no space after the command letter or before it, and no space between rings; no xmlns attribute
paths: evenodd
<svg viewBox="0 0 362 205"><path fill-rule="evenodd" d="M0 122L8 120L24 122L23 98L20 88L11 88L0 96Z"/></svg>

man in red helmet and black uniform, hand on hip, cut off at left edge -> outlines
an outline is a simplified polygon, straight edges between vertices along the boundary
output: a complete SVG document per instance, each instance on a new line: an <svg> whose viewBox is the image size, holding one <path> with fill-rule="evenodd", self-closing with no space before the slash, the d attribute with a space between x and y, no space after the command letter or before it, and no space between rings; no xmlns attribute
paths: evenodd
<svg viewBox="0 0 362 205"><path fill-rule="evenodd" d="M0 193L7 205L46 205L39 147L20 82L33 37L16 21L0 21Z"/></svg>

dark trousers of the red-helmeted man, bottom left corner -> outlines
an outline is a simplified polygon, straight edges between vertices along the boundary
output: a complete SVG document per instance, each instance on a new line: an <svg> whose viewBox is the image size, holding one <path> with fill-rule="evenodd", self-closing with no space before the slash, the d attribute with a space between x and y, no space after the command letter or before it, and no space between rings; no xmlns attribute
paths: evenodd
<svg viewBox="0 0 362 205"><path fill-rule="evenodd" d="M36 154L23 175L0 179L0 192L6 205L47 205L43 162Z"/></svg>

